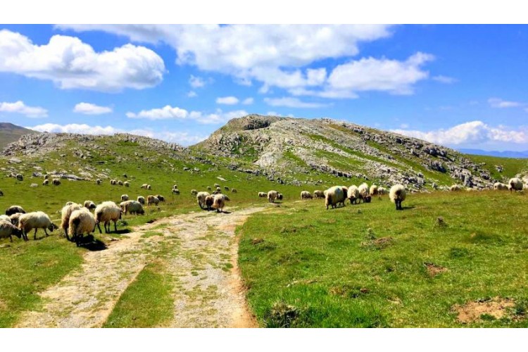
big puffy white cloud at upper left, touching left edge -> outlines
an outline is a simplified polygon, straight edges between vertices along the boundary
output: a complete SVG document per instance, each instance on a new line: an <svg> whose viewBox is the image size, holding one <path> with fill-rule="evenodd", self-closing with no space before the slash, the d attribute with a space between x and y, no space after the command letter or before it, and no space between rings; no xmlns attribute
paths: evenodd
<svg viewBox="0 0 528 352"><path fill-rule="evenodd" d="M24 35L0 30L0 72L51 80L61 89L120 92L163 80L163 59L144 46L125 44L97 53L76 37L54 35L36 45Z"/></svg>

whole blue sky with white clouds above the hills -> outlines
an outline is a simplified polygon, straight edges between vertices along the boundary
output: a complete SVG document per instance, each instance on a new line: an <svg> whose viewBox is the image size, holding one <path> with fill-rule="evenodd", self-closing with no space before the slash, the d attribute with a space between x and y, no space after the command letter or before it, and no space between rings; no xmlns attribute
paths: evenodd
<svg viewBox="0 0 528 352"><path fill-rule="evenodd" d="M184 145L247 113L528 150L526 25L1 25L0 120Z"/></svg>

